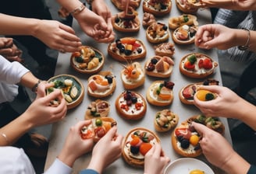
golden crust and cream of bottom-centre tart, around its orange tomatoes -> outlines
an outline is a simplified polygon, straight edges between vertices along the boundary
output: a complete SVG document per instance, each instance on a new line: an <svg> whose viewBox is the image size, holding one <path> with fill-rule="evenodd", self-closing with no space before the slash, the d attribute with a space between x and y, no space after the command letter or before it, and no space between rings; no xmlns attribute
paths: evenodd
<svg viewBox="0 0 256 174"><path fill-rule="evenodd" d="M140 136L140 134L144 134L145 138ZM136 127L130 130L127 134L126 137L124 137L123 144L122 144L122 156L123 159L129 164L134 167L138 168L143 168L144 167L144 155L138 151L136 155L133 155L131 151L132 145L130 142L132 141L132 137L140 137L140 141L142 143L150 143L150 144L155 144L155 143L160 143L160 138L153 132L150 131L144 127ZM148 137L148 138L146 138ZM134 147L134 146L133 146ZM140 146L136 146L135 148L140 148Z"/></svg>

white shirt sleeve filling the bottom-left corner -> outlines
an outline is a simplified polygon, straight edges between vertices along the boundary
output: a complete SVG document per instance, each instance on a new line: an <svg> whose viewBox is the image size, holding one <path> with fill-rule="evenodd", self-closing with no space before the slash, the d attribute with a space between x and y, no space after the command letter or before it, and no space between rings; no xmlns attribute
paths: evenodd
<svg viewBox="0 0 256 174"><path fill-rule="evenodd" d="M34 167L22 148L0 147L0 173L35 174Z"/></svg>

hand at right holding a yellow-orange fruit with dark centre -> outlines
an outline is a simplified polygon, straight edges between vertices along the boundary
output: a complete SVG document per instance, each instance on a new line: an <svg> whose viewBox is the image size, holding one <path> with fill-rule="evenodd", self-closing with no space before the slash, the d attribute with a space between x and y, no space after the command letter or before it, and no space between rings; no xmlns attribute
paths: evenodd
<svg viewBox="0 0 256 174"><path fill-rule="evenodd" d="M201 85L198 89L205 89L216 93L216 99L210 101L201 101L197 99L197 93L194 95L194 105L208 117L238 117L241 102L244 99L237 96L235 92L224 86L219 85Z"/></svg>

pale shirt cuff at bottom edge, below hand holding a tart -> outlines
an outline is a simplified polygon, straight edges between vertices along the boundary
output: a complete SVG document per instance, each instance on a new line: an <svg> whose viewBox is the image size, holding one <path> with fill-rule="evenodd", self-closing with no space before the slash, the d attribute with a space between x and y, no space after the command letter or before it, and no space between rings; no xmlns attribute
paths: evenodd
<svg viewBox="0 0 256 174"><path fill-rule="evenodd" d="M63 163L59 160L59 158L55 159L55 162L52 163L50 168L44 172L44 174L55 174L55 173L62 173L62 174L70 174L72 172L72 168L68 165Z"/></svg>

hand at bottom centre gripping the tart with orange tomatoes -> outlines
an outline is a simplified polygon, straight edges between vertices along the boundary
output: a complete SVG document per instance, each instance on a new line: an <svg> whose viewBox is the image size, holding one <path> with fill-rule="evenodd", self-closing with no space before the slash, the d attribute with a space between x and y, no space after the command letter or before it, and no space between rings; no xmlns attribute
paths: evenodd
<svg viewBox="0 0 256 174"><path fill-rule="evenodd" d="M168 162L170 158L163 154L161 145L155 144L145 155L144 174L163 173Z"/></svg>

